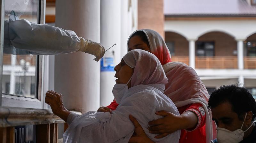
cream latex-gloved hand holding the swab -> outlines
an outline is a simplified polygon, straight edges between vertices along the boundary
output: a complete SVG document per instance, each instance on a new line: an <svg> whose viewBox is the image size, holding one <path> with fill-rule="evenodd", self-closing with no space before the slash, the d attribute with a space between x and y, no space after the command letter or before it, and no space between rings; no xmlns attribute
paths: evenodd
<svg viewBox="0 0 256 143"><path fill-rule="evenodd" d="M102 56L104 56L105 49L100 43L87 40L82 37L79 38L81 39L81 48L78 51L82 51L96 56L94 60L97 62L100 60L100 58L102 58Z"/></svg>

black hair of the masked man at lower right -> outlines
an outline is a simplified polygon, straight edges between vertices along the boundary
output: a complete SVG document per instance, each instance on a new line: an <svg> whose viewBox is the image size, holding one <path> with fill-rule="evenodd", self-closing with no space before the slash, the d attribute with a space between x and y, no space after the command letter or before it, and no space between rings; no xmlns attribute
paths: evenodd
<svg viewBox="0 0 256 143"><path fill-rule="evenodd" d="M252 121L256 117L256 102L252 94L244 88L237 85L224 85L212 92L208 101L208 109L217 107L223 102L229 102L232 110L243 120L246 112L252 111Z"/></svg>

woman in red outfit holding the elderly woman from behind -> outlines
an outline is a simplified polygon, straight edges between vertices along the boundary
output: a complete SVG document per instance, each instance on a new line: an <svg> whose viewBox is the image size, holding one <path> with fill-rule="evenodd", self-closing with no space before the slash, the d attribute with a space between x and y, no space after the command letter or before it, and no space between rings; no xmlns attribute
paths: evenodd
<svg viewBox="0 0 256 143"><path fill-rule="evenodd" d="M149 51L159 59L168 78L164 94L180 112L179 116L165 111L157 112L164 118L149 122L149 131L159 134L155 138L163 138L181 129L180 143L210 142L216 133L212 129L211 111L206 107L209 94L195 70L186 64L172 62L163 38L156 31L142 29L133 32L127 41L127 51L133 49ZM117 106L114 100L99 111L115 110Z"/></svg>

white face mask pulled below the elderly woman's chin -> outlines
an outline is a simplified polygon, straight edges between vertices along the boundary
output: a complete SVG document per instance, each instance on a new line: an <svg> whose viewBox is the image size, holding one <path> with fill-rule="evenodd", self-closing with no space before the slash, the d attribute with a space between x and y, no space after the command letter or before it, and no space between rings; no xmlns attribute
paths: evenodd
<svg viewBox="0 0 256 143"><path fill-rule="evenodd" d="M112 89L112 93L115 97L116 103L120 103L120 101L123 98L123 95L127 92L128 90L128 86L127 84L131 81L132 77L128 80L128 82L126 84L115 84L113 89Z"/></svg>

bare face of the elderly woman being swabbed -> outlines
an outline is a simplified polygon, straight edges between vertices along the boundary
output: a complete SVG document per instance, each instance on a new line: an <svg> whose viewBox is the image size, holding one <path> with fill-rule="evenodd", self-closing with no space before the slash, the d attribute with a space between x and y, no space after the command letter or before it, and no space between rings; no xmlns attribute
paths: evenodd
<svg viewBox="0 0 256 143"><path fill-rule="evenodd" d="M117 84L126 84L132 77L132 74L134 72L134 69L125 64L123 59L119 64L116 65L114 70L116 71L115 77L117 78ZM128 88L131 87L131 81L127 84L127 86Z"/></svg>

